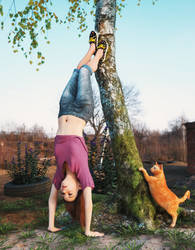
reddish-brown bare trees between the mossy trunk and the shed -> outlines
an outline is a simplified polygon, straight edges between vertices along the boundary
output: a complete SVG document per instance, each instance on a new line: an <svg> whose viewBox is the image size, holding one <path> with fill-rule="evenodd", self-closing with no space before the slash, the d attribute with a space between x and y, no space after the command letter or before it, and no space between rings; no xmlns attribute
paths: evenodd
<svg viewBox="0 0 195 250"><path fill-rule="evenodd" d="M144 124L133 126L136 144L144 161L186 161L184 115L169 122L164 131L149 130Z"/></svg>

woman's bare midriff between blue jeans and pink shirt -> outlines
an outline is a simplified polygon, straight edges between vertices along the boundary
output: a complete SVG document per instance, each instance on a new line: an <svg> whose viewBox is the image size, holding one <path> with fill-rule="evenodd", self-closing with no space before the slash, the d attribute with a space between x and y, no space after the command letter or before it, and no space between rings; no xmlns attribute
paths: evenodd
<svg viewBox="0 0 195 250"><path fill-rule="evenodd" d="M73 115L62 115L58 118L57 135L78 135L83 136L83 129L86 122Z"/></svg>

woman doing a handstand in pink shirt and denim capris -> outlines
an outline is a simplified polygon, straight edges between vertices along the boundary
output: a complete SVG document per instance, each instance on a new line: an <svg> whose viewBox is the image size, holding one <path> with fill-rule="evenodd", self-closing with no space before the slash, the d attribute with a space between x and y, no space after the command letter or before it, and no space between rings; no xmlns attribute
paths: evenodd
<svg viewBox="0 0 195 250"><path fill-rule="evenodd" d="M83 138L83 129L94 111L91 75L104 61L107 43L98 42L96 32L89 36L90 48L67 83L61 99L58 114L58 130L55 137L56 173L49 196L50 232L55 227L55 212L60 190L66 208L73 219L80 221L87 236L103 236L90 229L92 217L92 189L94 182L88 166L88 150ZM92 58L92 56L94 57Z"/></svg>

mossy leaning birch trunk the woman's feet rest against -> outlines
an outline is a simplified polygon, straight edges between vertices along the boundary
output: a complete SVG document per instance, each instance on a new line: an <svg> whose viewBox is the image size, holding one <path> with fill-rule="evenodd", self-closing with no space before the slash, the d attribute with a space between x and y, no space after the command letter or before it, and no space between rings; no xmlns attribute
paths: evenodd
<svg viewBox="0 0 195 250"><path fill-rule="evenodd" d="M140 159L121 81L115 63L116 0L97 0L95 30L105 39L109 49L105 62L95 76L99 84L104 117L109 128L118 180L118 211L137 218L148 228L154 227L155 207L148 186L138 168Z"/></svg>

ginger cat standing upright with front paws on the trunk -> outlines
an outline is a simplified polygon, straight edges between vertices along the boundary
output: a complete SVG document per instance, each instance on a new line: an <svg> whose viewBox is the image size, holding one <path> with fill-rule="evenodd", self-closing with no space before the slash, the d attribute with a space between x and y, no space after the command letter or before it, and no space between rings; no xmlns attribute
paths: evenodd
<svg viewBox="0 0 195 250"><path fill-rule="evenodd" d="M190 191L186 191L182 198L178 198L167 186L163 165L159 165L157 162L150 169L154 176L149 176L143 167L139 168L139 171L144 174L154 200L172 216L170 227L174 227L177 221L179 204L190 198Z"/></svg>

